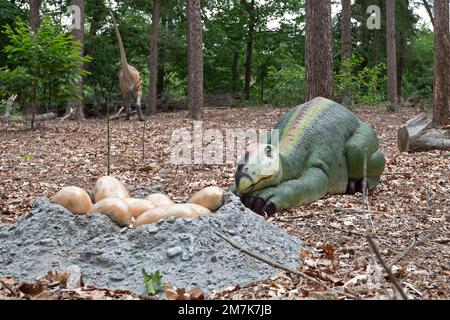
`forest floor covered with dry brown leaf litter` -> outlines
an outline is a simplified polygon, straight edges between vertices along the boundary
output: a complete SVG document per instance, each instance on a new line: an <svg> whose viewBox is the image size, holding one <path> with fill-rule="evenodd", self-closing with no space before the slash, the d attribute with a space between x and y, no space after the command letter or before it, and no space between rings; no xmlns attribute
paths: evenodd
<svg viewBox="0 0 450 320"><path fill-rule="evenodd" d="M271 108L207 109L203 128L219 129L224 135L227 128L271 129L284 112ZM414 109L403 109L399 115L376 108L360 108L356 113L375 126L387 160L381 184L369 194L370 214L358 210L362 207L361 195L336 195L282 212L269 221L317 249L313 253L299 253L305 262L301 271L321 279L330 288L345 286L349 294L363 299L394 296L392 283L370 253L365 231L373 234L386 263L396 260L411 244L417 244L395 263L393 272L411 298L449 299L450 223L445 220L450 212L450 158L439 151L398 152L398 126L415 114ZM231 185L234 165L170 163L169 141L173 130L192 131L193 123L186 118L185 112L152 117L147 123L143 161L143 124L111 122L112 175L129 190L152 186L180 201L209 185ZM36 197L51 197L63 186L93 189L95 181L106 174L106 145L104 120L48 122L36 131L3 125L0 226L27 213ZM14 279L0 280L0 298L14 297L12 292L19 284ZM58 297L139 298L131 293L93 288ZM280 272L272 279L245 288L231 285L209 298L341 299L343 296Z"/></svg>

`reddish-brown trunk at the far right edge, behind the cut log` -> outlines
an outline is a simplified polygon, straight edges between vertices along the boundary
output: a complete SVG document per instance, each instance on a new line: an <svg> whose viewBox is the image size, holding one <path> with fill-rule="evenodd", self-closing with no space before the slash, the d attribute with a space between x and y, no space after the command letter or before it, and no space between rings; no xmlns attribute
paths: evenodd
<svg viewBox="0 0 450 320"><path fill-rule="evenodd" d="M433 124L450 124L450 30L448 0L434 0L434 112Z"/></svg>

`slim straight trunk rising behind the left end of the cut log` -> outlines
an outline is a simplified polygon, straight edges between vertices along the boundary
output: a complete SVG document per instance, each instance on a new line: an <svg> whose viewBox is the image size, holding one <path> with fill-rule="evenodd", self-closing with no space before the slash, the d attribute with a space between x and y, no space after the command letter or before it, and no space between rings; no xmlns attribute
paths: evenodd
<svg viewBox="0 0 450 320"><path fill-rule="evenodd" d="M388 74L388 100L389 110L398 111L397 97L397 57L395 43L395 0L386 3L386 48L387 48L387 74Z"/></svg>

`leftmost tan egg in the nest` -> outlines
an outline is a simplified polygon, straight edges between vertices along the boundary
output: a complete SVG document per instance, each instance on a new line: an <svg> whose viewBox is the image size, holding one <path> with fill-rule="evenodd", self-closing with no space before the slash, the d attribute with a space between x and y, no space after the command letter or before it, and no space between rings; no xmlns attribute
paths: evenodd
<svg viewBox="0 0 450 320"><path fill-rule="evenodd" d="M52 199L54 203L63 206L73 214L84 214L92 208L89 194L78 187L62 188Z"/></svg>

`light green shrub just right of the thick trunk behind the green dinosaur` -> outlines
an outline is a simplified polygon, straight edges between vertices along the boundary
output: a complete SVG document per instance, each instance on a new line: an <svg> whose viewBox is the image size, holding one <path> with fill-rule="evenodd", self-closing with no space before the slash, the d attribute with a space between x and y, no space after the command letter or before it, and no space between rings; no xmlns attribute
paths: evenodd
<svg viewBox="0 0 450 320"><path fill-rule="evenodd" d="M380 105L386 101L386 64L362 67L364 58L353 55L335 73L335 93L357 104Z"/></svg>

